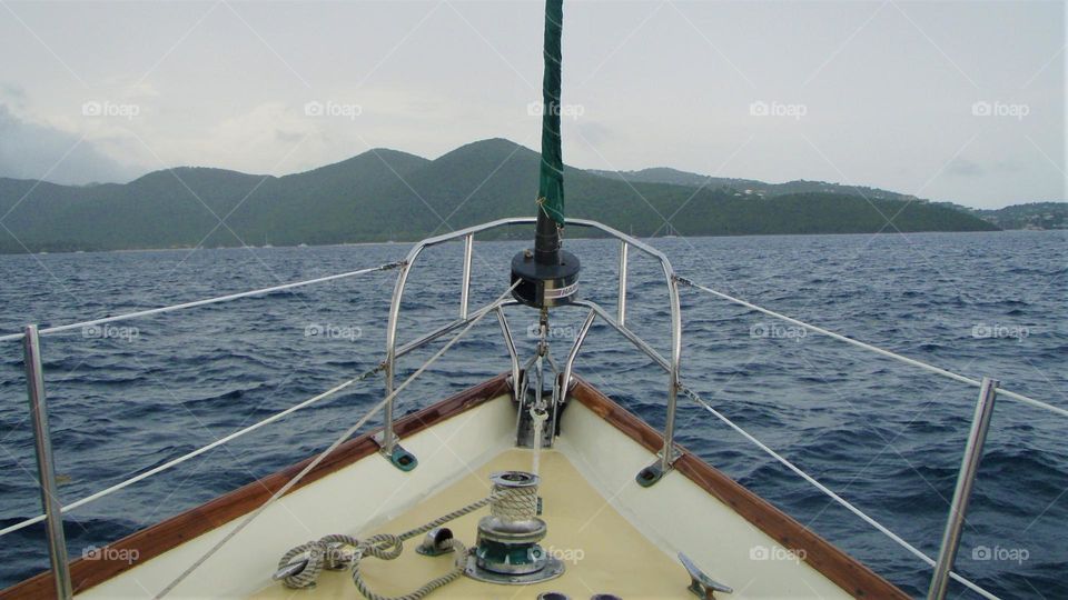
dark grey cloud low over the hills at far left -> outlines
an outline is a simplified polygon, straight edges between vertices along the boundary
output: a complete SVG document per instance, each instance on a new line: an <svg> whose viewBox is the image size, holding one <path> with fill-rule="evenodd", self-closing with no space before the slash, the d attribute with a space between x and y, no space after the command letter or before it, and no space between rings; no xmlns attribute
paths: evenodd
<svg viewBox="0 0 1068 600"><path fill-rule="evenodd" d="M52 183L126 182L139 170L103 154L73 133L31 123L0 104L0 177Z"/></svg>

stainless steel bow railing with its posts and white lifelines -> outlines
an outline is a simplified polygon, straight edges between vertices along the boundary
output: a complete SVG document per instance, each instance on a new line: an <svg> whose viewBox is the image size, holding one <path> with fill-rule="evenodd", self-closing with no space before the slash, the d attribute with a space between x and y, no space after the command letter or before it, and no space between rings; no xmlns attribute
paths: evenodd
<svg viewBox="0 0 1068 600"><path fill-rule="evenodd" d="M96 500L98 498L112 493L115 491L118 491L129 484L132 484L137 481L146 479L147 477L150 477L152 474L167 470L171 467L177 466L180 462L184 462L196 456L199 456L200 453L204 453L210 450L211 448L220 446L239 436L243 436L255 429L258 429L264 424L274 422L285 417L286 414L291 413L295 410L310 406L312 403L317 402L323 398L326 398L336 393L337 391L344 389L345 387L350 386L352 383L358 380L362 380L364 376L367 376L368 373L374 373L379 369L384 370L386 373L386 382L385 382L386 400L384 401L385 403L384 428L378 440L379 440L379 444L382 446L383 452L386 453L387 456L393 456L393 452L398 448L397 437L393 429L393 426L394 426L394 417L393 417L394 406L393 404L395 400L394 397L396 396L396 392L399 391L399 389L394 389L394 381L393 381L395 368L396 368L396 360L407 354L408 352L412 352L417 348L421 348L427 343L431 343L434 340L437 340L441 337L452 331L473 324L474 321L477 321L478 319L483 318L486 313L491 311L496 312L498 323L501 326L502 334L504 337L504 340L508 350L508 356L512 362L513 382L515 383L513 384L513 391L514 393L516 393L516 397L517 397L518 388L520 388L517 383L520 380L521 366L520 366L518 356L515 350L515 343L512 337L512 332L508 327L507 319L505 317L504 308L506 306L517 304L518 302L514 300L504 300L504 301L487 304L472 312L468 307L469 296L471 296L472 259L473 259L473 251L474 251L474 237L476 233L496 229L500 227L515 226L515 224L533 224L534 222L535 222L535 219L533 218L501 219L497 221L492 221L488 223L466 228L452 233L428 238L413 246L413 248L408 251L408 254L404 261L396 262L396 263L387 263L376 268L363 269L358 271L349 271L346 273L339 273L339 274L329 276L329 277L323 277L323 278L299 281L294 283L286 283L281 286L275 286L270 288L251 290L247 292L234 293L228 296L220 296L217 298L198 300L194 302L186 302L186 303L174 304L168 307L148 309L148 310L137 311L137 312L131 312L126 314L119 314L116 317L108 317L102 319L82 321L78 323L57 326L57 327L51 327L51 328L46 328L40 330L38 330L36 326L28 326L22 332L0 336L0 342L12 341L12 340L22 340L23 342L23 349L26 352L28 396L30 398L31 414L33 417L34 446L37 447L37 450L38 450L38 467L41 476L41 493L42 493L42 501L44 504L44 514L37 518L27 519L26 521L16 523L14 526L0 530L0 536L10 533L18 529L22 529L36 522L46 521L47 529L48 529L50 558L52 561L52 570L56 579L57 594L59 598L69 598L71 593L71 587L70 587L70 577L69 577L69 571L67 568L67 560L66 560L66 541L63 539L63 533L62 533L62 512L67 512L68 510L71 510L73 508L88 503L92 500ZM983 596L986 598L997 598L992 593L988 592L987 590L983 590L982 588L979 588L975 583L968 581L967 579L962 578L961 576L952 571L953 561L955 561L957 549L960 542L960 533L961 533L961 528L963 526L965 513L966 513L968 501L971 494L971 489L975 482L976 469L978 468L979 460L982 456L983 442L986 439L986 432L990 423L990 416L992 413L995 400L998 396L1001 396L1001 397L1006 397L1006 398L1029 404L1031 407L1036 407L1036 408L1040 408L1040 409L1054 412L1062 417L1068 417L1068 409L1056 407L1056 406L1049 404L1048 402L1042 402L1040 400L1029 398L1027 396L1024 396L1015 391L1001 389L998 387L998 383L995 380L991 380L988 378L982 378L981 380L977 380L966 376L953 373L951 371L940 369L938 367L933 367L931 364L928 364L914 359L910 359L908 357L903 357L894 352L890 352L882 348L868 344L852 338L848 338L846 336L835 333L833 331L830 331L810 323L805 323L798 319L787 317L779 312L731 297L729 294L719 292L711 288L700 286L688 279L678 277L674 270L672 269L671 262L668 260L668 257L663 252L635 238L626 236L611 227L604 226L595 221L576 219L576 220L568 221L568 223L574 227L593 228L602 231L603 233L606 233L609 237L620 240L619 296L617 296L617 307L616 307L614 317L594 302L591 302L591 301L575 302L575 306L577 307L587 308L589 313L585 320L583 321L582 327L578 330L574 344L572 346L571 350L567 353L567 358L564 363L564 368L562 370L562 379L561 379L561 388L560 388L561 401L566 400L566 394L570 390L571 380L573 378L575 360L580 354L581 348L583 346L585 338L587 337L591 326L597 318L600 318L611 328L620 332L627 341L630 341L639 350L645 353L655 364L661 367L669 376L668 419L664 426L664 434L663 434L664 443L660 452L660 456L657 457L656 462L647 467L646 469L643 469L643 471L639 473L637 480L640 483L642 484L655 483L655 481L657 481L661 477L663 477L664 473L666 473L671 469L671 464L676 458L676 450L674 446L674 428L675 428L674 421L675 421L675 413L676 413L678 394L680 392L685 392L690 394L692 398L694 398L695 400L698 400L700 403L704 404L704 407L714 416L716 416L718 418L720 418L721 420L730 424L732 428L738 430L744 437L750 439L750 441L753 441L754 443L756 443L759 447L761 447L761 449L769 452L777 460L787 464L789 468L791 468L791 470L794 470L801 477L809 480L821 491L823 491L824 493L828 493L832 499L846 506L852 512L854 512L856 514L860 516L862 519L864 519L869 523L877 527L877 529L888 534L891 539L897 541L899 544L906 547L913 554L917 554L918 557L923 559L926 562L928 562L931 567L933 567L934 573L933 573L933 577L931 580L931 587L929 590L929 596L928 596L929 599L941 600L942 598L945 598L948 581L950 579L963 583L969 589L976 591L980 596ZM398 347L397 323L398 323L398 317L400 311L400 301L405 292L407 276L411 272L412 267L415 264L419 254L426 248L436 246L439 243L457 240L457 239L463 239L464 241L464 253L463 253L463 264L462 264L462 276L461 276L462 287L461 287L458 318L437 330L434 330L411 342L407 342ZM626 309L627 309L626 284L627 284L627 267L629 267L627 261L629 261L629 251L631 247L634 247L640 251L651 256L662 267L664 279L668 284L669 302L671 308L671 321L670 321L671 356L670 358L665 358L664 356L662 356L651 344L649 344L645 340L643 340L641 337L634 333L633 330L626 327ZM319 283L325 281L354 277L358 274L365 274L373 271L385 271L394 268L398 269L398 274L394 286L394 292L393 292L393 297L389 306L389 319L387 322L387 331L386 331L386 358L378 368L374 369L373 371L369 371L368 373L365 373L364 376L360 376L360 378L346 381L340 386L332 388L330 390L327 390L326 392L319 396L316 396L309 400L306 400L280 413L268 417L264 421L260 421L243 430L239 430L235 433L231 433L204 448L194 450L188 454L179 457L178 459L169 461L148 472L136 476L129 480L120 482L119 484L112 486L106 490L97 492L88 498L78 500L67 507L59 506L59 502L55 496L55 490L56 490L55 474L51 471L51 444L49 441L49 431L48 431L48 423L47 423L44 379L43 379L43 370L41 367L41 359L40 359L39 336L58 333L63 331L71 331L71 330L76 330L85 327L106 324L106 323L111 323L111 322L117 322L122 320L129 320L129 319L147 317L147 316L158 314L164 312L170 312L176 310L182 310L188 308L195 308L195 307L212 304L218 302L226 302L226 301L236 300L240 298L264 294L271 291L286 290L286 289L297 288L301 286L309 286L313 283ZM729 419L726 419L726 417L715 411L715 409L713 409L711 406L700 400L700 398L696 398L695 394L693 394L692 390L682 386L680 381L680 364L681 364L681 350L682 350L682 319L681 319L680 300L679 300L680 284L692 287L694 289L708 292L710 294L716 296L730 302L762 312L770 317L774 317L777 319L784 320L795 326L803 327L809 331L828 336L832 339L837 339L837 340L850 343L854 347L864 349L867 351L871 351L877 354L891 358L893 360L898 360L900 362L910 364L912 367L917 367L926 371L932 372L934 374L939 374L941 377L952 379L960 383L973 386L980 389L980 394L977 401L971 430L965 448L965 456L962 459L961 469L958 474L957 489L953 494L949 518L947 519L946 530L942 536L942 543L940 547L938 560L930 559L929 557L927 557L926 554L917 550L914 547L912 547L911 544L902 540L900 537L893 534L893 532L891 532L889 529L879 524L877 521L874 521L873 519L871 519L870 517L861 512L859 509L857 509L856 507L853 507L842 498L834 494L831 490L829 490L828 488L825 488L824 486L815 481L813 478L811 478L810 476L801 471L799 468L793 466L787 459L782 458L780 454L775 453L773 450L771 450L770 448L761 443L759 440L756 440L755 438L746 433L744 430L742 430L740 427L738 427L733 422L731 422Z"/></svg>

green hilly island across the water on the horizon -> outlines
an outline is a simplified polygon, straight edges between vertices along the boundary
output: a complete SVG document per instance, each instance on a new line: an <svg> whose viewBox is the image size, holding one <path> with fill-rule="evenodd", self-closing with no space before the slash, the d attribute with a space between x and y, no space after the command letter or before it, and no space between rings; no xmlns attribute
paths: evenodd
<svg viewBox="0 0 1068 600"><path fill-rule="evenodd" d="M538 160L527 148L491 139L436 160L377 149L285 177L184 167L122 184L0 178L0 214L7 214L0 252L415 240L532 216ZM640 237L1048 229L1065 227L1068 207L983 211L871 188L715 179L672 169L567 168L566 193L570 217Z"/></svg>

